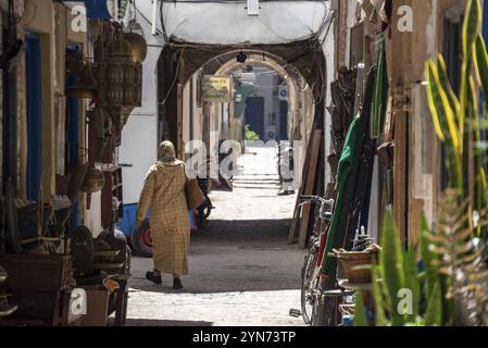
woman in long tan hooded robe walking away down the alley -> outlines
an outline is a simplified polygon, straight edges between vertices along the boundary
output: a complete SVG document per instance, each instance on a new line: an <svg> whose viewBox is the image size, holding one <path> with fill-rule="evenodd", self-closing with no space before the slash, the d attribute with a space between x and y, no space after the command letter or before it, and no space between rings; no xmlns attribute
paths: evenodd
<svg viewBox="0 0 488 348"><path fill-rule="evenodd" d="M149 169L137 208L137 227L150 210L154 271L148 281L162 284L161 273L173 274L173 288L182 289L180 276L188 274L190 223L185 195L185 163L176 159L175 147L163 141L158 161Z"/></svg>

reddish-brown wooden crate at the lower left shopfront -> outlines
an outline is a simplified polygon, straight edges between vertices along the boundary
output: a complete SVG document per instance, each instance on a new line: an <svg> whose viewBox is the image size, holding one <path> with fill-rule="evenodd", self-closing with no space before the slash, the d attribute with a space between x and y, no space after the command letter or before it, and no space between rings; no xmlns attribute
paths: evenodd
<svg viewBox="0 0 488 348"><path fill-rule="evenodd" d="M4 254L0 264L9 274L4 286L12 291L64 290L73 274L68 256Z"/></svg>

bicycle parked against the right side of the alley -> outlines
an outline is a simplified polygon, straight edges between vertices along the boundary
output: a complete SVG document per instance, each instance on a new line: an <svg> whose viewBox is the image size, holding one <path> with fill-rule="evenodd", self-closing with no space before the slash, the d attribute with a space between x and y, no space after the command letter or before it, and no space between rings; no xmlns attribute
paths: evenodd
<svg viewBox="0 0 488 348"><path fill-rule="evenodd" d="M300 199L303 200L299 206L300 208L308 203L318 203L321 207L315 220L318 226L315 225L313 228L309 240L309 253L305 256L301 272L301 315L305 324L314 325L314 318L317 316L320 309L317 299L322 293L321 265L326 241L326 225L330 222L335 200L326 200L318 196L301 196ZM326 210L327 207L330 210Z"/></svg>

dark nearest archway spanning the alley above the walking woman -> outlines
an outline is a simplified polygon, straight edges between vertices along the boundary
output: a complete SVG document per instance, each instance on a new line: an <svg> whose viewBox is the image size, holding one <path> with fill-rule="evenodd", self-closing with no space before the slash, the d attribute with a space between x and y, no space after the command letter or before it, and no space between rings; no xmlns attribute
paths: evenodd
<svg viewBox="0 0 488 348"><path fill-rule="evenodd" d="M209 73L214 73L220 67L215 59L228 61L241 51L272 59L289 74L303 76L312 88L316 113L323 114L327 70L324 52L317 40L240 46L172 42L163 49L158 61L160 139L170 139L178 147L180 89L190 76L202 66L205 66Z"/></svg>

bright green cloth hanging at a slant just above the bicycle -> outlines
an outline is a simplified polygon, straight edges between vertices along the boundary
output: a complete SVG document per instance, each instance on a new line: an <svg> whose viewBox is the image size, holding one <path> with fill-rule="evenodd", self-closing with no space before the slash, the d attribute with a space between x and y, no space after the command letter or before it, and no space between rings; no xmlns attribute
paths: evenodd
<svg viewBox="0 0 488 348"><path fill-rule="evenodd" d="M342 219L341 210L342 210L342 199L348 184L349 172L352 167L352 160L354 158L354 149L358 140L358 127L359 127L360 117L356 116L354 121L351 123L348 135L346 137L342 154L340 156L339 165L337 167L337 182L338 182L338 191L337 191L337 200L336 207L334 210L333 220L330 222L330 228L327 234L327 244L325 246L324 251L324 261L322 263L322 271L325 274L329 274L330 270L330 258L328 253L333 251L336 246L336 237L337 237L337 228L340 220Z"/></svg>

